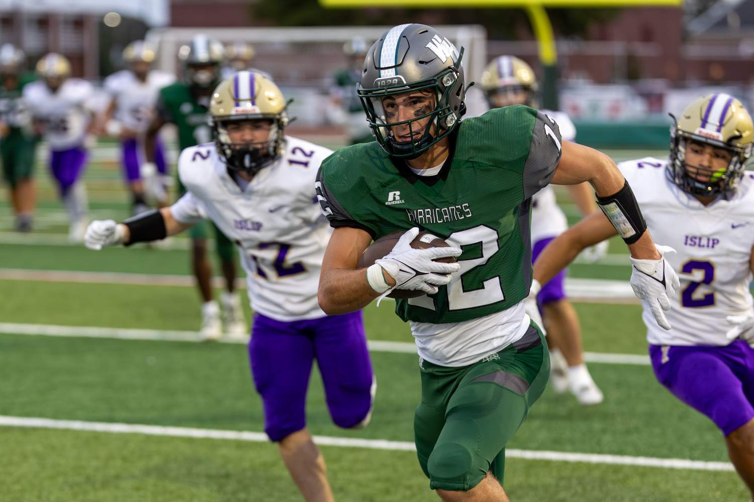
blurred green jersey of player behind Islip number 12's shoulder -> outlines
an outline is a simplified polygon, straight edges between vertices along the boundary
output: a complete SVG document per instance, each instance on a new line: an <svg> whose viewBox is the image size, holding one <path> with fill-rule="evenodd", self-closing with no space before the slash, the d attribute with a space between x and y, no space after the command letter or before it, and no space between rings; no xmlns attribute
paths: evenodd
<svg viewBox="0 0 754 502"><path fill-rule="evenodd" d="M176 82L160 90L157 111L163 122L178 126L181 150L212 141L212 129L207 125L207 107L198 103L188 84Z"/></svg>

